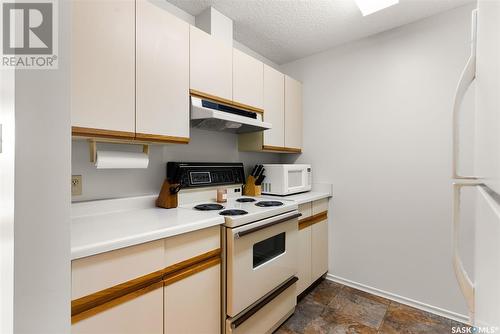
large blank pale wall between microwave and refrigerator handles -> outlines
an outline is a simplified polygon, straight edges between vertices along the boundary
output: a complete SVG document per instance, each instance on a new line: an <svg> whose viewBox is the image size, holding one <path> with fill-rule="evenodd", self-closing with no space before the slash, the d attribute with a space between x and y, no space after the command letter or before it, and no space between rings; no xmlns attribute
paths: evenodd
<svg viewBox="0 0 500 334"><path fill-rule="evenodd" d="M304 153L334 184L330 273L467 314L452 270L451 107L472 6L283 66ZM293 160L292 160L293 161Z"/></svg>

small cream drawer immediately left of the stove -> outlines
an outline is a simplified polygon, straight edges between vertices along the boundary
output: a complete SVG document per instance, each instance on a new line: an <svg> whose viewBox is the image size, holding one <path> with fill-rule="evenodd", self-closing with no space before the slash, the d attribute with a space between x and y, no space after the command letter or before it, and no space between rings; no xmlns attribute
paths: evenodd
<svg viewBox="0 0 500 334"><path fill-rule="evenodd" d="M220 226L177 235L165 240L163 266L191 259L220 248Z"/></svg>

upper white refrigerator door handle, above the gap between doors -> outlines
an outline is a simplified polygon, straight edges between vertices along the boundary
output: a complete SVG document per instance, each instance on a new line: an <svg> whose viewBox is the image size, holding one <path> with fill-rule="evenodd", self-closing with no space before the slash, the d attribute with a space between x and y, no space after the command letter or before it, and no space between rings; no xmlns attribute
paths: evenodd
<svg viewBox="0 0 500 334"><path fill-rule="evenodd" d="M472 11L472 40L471 40L471 55L467 61L467 65L462 72L460 81L458 82L455 92L455 100L453 102L453 158L452 158L452 175L454 179L459 180L477 180L476 176L459 175L459 155L460 155L460 107L464 100L465 94L470 85L476 78L476 21L477 10Z"/></svg>

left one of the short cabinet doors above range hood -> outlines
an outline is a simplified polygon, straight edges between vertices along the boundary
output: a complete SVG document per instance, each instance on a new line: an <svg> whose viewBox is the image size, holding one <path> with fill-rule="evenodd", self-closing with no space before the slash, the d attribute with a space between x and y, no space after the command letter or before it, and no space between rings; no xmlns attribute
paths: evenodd
<svg viewBox="0 0 500 334"><path fill-rule="evenodd" d="M206 32L190 27L190 88L231 101L233 50Z"/></svg>

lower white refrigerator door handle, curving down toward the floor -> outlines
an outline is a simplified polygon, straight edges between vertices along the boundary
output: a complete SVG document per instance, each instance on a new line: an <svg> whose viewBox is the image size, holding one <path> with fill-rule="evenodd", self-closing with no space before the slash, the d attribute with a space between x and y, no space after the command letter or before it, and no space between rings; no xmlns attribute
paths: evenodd
<svg viewBox="0 0 500 334"><path fill-rule="evenodd" d="M474 283L472 283L472 280L465 270L462 259L460 258L461 190L463 187L476 187L481 185L482 184L479 182L453 183L453 268L460 290L469 308L469 320L471 323L474 321Z"/></svg>

